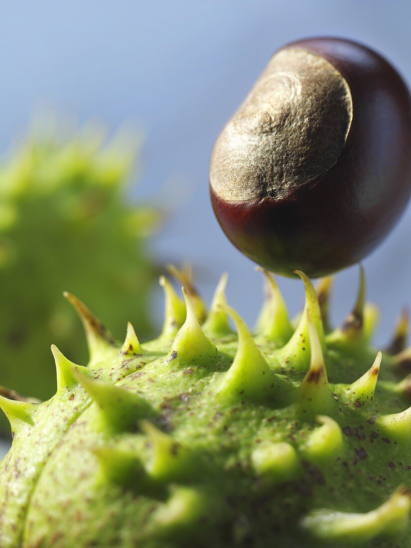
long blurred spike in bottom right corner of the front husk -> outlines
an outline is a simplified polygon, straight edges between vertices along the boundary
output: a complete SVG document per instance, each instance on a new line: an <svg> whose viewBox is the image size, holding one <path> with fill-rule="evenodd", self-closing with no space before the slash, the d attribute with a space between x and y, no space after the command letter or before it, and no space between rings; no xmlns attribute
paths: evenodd
<svg viewBox="0 0 411 548"><path fill-rule="evenodd" d="M327 546L334 541L363 544L381 534L397 534L405 530L410 510L411 494L405 486L400 486L384 504L368 513L316 510L305 517L301 524L313 536L325 541ZM394 542L394 545L397 543Z"/></svg>

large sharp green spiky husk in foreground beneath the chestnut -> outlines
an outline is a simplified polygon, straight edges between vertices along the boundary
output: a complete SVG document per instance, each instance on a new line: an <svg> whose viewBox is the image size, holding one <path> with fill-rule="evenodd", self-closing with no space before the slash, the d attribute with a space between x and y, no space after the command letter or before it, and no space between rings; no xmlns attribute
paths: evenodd
<svg viewBox="0 0 411 548"><path fill-rule="evenodd" d="M53 347L53 398L0 399L14 432L2 548L408 546L409 352L370 346L363 277L353 313L324 334L329 283L320 306L298 274L298 326L267 275L254 335L226 304L226 278L205 321L193 288L184 306L162 278L163 333L145 344L130 325L113 344L71 298L89 366Z"/></svg>

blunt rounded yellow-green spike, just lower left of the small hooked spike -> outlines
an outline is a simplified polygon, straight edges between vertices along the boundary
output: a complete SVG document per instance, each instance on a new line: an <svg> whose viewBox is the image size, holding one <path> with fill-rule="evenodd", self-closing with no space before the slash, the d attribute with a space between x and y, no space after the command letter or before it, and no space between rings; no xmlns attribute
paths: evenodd
<svg viewBox="0 0 411 548"><path fill-rule="evenodd" d="M275 483L294 479L300 470L298 455L287 442L261 442L254 449L251 460L258 474Z"/></svg>

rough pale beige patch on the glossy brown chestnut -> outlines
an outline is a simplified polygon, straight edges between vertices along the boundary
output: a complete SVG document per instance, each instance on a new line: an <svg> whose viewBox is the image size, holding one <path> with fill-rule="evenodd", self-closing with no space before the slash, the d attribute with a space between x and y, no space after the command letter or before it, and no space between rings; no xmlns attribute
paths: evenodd
<svg viewBox="0 0 411 548"><path fill-rule="evenodd" d="M213 191L230 202L287 197L336 163L352 115L349 85L330 62L279 51L215 143Z"/></svg>

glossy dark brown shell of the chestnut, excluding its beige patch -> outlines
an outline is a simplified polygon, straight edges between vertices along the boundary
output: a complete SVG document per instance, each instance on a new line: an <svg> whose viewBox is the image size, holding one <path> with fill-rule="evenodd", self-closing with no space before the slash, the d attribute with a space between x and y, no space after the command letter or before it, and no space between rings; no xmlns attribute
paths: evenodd
<svg viewBox="0 0 411 548"><path fill-rule="evenodd" d="M250 259L282 275L319 277L361 261L403 213L411 193L411 101L397 71L361 44L313 38L286 48L327 60L348 84L352 120L343 150L287 196L230 201L211 185L210 193L222 230Z"/></svg>

